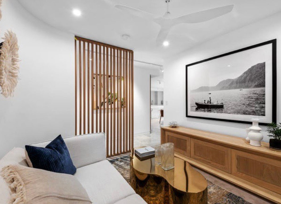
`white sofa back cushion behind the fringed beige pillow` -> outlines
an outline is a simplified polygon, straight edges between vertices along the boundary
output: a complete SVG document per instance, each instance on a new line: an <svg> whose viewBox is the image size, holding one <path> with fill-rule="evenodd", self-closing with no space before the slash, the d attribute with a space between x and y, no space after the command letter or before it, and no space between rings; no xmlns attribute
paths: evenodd
<svg viewBox="0 0 281 204"><path fill-rule="evenodd" d="M0 160L0 170L4 166L8 166L11 164L20 164L23 166L27 166L27 163L25 160L25 155L24 155L24 149L13 148L11 151L9 151ZM10 200L10 189L9 189L7 183L2 178L2 176L0 176L0 201L3 203L9 203L9 200Z"/></svg>

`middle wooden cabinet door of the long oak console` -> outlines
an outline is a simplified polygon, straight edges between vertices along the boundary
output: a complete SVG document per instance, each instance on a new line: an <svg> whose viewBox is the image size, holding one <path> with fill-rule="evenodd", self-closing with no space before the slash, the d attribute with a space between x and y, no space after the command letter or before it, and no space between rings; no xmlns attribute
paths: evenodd
<svg viewBox="0 0 281 204"><path fill-rule="evenodd" d="M192 138L191 158L227 173L231 173L230 148Z"/></svg>

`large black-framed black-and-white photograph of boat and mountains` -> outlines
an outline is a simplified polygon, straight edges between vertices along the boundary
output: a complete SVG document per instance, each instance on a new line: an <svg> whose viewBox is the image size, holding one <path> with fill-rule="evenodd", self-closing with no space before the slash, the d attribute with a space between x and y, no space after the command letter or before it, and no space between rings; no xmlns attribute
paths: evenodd
<svg viewBox="0 0 281 204"><path fill-rule="evenodd" d="M276 123L276 39L186 65L186 117Z"/></svg>

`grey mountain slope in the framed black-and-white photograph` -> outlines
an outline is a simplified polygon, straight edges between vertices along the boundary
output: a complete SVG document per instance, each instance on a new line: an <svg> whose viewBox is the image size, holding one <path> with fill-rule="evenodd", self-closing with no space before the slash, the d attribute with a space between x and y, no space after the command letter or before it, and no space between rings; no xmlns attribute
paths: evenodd
<svg viewBox="0 0 281 204"><path fill-rule="evenodd" d="M265 62L253 65L235 79L226 79L216 86L202 86L193 91L216 91L265 87Z"/></svg>

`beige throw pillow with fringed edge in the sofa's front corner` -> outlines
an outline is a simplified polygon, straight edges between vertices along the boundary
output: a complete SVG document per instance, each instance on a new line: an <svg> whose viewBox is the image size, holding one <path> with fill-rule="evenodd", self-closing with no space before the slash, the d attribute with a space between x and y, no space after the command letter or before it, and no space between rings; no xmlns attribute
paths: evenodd
<svg viewBox="0 0 281 204"><path fill-rule="evenodd" d="M69 174L9 165L1 175L10 187L10 204L92 203L81 183Z"/></svg>

